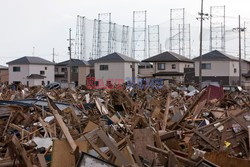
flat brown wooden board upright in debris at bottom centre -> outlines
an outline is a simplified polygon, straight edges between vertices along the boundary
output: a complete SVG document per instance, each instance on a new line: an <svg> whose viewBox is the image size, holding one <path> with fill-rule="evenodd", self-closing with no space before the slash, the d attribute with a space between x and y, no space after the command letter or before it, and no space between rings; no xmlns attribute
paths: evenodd
<svg viewBox="0 0 250 167"><path fill-rule="evenodd" d="M134 129L135 150L138 156L145 158L148 161L154 160L154 153L147 150L147 145L154 145L154 136L150 128Z"/></svg>

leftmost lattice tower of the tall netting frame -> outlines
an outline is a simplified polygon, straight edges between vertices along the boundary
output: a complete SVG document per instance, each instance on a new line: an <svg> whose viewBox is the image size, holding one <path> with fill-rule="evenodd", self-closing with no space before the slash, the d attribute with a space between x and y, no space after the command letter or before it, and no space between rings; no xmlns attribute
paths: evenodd
<svg viewBox="0 0 250 167"><path fill-rule="evenodd" d="M84 60L86 55L85 48L85 17L78 15L76 21L75 58Z"/></svg>

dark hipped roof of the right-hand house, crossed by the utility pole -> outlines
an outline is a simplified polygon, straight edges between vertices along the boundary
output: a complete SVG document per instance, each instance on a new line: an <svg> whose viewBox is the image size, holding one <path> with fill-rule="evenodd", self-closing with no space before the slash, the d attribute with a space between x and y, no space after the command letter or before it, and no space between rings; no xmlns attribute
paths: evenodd
<svg viewBox="0 0 250 167"><path fill-rule="evenodd" d="M195 57L193 60L200 61L200 56ZM222 53L218 50L213 50L211 52L203 54L202 60L204 61L239 61L237 57L234 57L226 53Z"/></svg>

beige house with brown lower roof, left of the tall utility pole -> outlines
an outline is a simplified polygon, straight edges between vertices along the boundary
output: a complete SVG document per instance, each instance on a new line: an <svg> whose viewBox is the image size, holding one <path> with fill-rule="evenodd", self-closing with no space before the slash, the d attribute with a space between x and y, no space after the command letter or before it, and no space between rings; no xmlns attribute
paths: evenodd
<svg viewBox="0 0 250 167"><path fill-rule="evenodd" d="M165 80L165 83L183 82L185 78L184 69L194 66L191 59L168 51L142 60L142 62L153 63L153 69L150 69L148 74L151 73L154 78Z"/></svg>

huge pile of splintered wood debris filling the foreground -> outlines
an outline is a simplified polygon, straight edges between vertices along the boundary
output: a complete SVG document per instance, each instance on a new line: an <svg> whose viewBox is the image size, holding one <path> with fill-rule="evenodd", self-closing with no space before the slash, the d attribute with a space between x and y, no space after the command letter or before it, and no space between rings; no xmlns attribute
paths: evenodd
<svg viewBox="0 0 250 167"><path fill-rule="evenodd" d="M250 166L250 96L2 87L1 166Z"/></svg>

